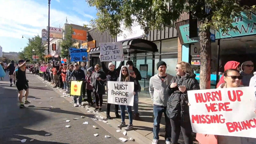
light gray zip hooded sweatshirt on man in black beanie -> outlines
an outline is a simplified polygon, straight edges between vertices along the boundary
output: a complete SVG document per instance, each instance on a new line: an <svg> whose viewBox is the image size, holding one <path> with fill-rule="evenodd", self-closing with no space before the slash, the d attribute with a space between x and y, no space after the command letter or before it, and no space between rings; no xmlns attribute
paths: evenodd
<svg viewBox="0 0 256 144"><path fill-rule="evenodd" d="M167 107L167 100L170 95L167 94L166 88L171 83L173 76L167 74L164 82L159 78L158 74L152 76L149 80L149 93L153 104Z"/></svg>

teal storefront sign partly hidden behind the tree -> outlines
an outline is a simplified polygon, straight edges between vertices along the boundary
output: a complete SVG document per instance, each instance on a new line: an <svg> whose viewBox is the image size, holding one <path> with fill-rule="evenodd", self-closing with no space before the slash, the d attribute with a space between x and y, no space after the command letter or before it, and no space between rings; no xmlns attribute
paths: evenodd
<svg viewBox="0 0 256 144"><path fill-rule="evenodd" d="M256 12L250 12L247 17L245 12L241 12L241 17L236 17L232 23L238 30L223 33L221 29L216 30L215 39L232 38L239 36L256 35ZM180 26L180 33L184 44L198 42L189 38L189 24ZM211 40L214 42L214 35L211 34Z"/></svg>

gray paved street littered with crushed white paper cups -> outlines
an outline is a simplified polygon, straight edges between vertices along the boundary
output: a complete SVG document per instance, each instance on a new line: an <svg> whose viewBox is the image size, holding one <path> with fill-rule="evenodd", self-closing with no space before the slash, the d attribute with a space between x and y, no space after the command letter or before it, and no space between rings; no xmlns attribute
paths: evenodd
<svg viewBox="0 0 256 144"><path fill-rule="evenodd" d="M27 139L25 143L37 144L122 143L110 134L110 131L89 118L93 115L85 115L79 108L72 107L68 100L61 98L57 92L49 86L45 86L36 76L27 73L27 79L29 80L28 100L31 101L31 104L25 105L26 108L22 109L18 107L16 86L9 87L8 74L3 81L0 81L0 143L21 143L22 139ZM41 102L42 104L40 104ZM88 117L73 120L80 116ZM70 122L66 123L64 119L70 120ZM89 124L82 124L85 121ZM71 127L67 128L66 125ZM96 125L98 129L92 128L92 125ZM45 136L47 133L51 133L51 135ZM95 137L93 135L95 133L98 133L99 136ZM105 135L109 135L111 138L106 139ZM35 140L29 142L31 139Z"/></svg>

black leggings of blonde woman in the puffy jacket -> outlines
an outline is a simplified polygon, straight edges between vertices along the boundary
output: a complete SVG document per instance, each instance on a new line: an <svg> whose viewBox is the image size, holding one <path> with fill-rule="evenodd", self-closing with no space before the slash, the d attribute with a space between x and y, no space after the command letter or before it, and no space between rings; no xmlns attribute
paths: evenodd
<svg viewBox="0 0 256 144"><path fill-rule="evenodd" d="M170 119L170 121L172 125L172 144L178 143L180 130L183 134L185 144L193 144L193 140L191 136L192 127L191 127L190 121L181 122L180 120L172 120L172 119Z"/></svg>

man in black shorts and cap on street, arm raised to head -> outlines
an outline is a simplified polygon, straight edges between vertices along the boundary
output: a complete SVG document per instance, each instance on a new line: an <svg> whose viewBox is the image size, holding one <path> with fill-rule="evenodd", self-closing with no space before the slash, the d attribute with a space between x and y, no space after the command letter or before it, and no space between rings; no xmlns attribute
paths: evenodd
<svg viewBox="0 0 256 144"><path fill-rule="evenodd" d="M26 78L26 63L30 60L19 60L19 65L15 68L14 76L16 80L16 87L19 91L18 97L20 100L20 108L24 108L24 104L22 102L22 92L25 90L25 104L30 104L28 101L28 80Z"/></svg>

